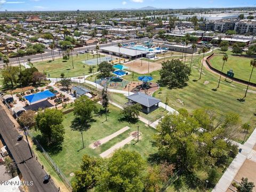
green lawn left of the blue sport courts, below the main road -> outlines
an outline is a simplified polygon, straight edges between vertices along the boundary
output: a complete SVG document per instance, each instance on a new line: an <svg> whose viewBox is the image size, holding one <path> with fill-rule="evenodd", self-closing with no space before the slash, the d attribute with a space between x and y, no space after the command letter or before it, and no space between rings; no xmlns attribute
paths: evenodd
<svg viewBox="0 0 256 192"><path fill-rule="evenodd" d="M55 59L54 61L40 61L33 63L34 67L38 69L38 71L45 72L46 77L59 78L61 73L65 74L65 77L79 77L84 74L89 74L89 65L82 63L82 61L88 59L95 59L97 56L91 55L89 53L73 55L74 69L72 66L71 56L67 62L63 62L63 59ZM103 55L99 55L99 57L104 57ZM96 66L97 67L97 66ZM94 71L97 71L97 68L94 66Z"/></svg>

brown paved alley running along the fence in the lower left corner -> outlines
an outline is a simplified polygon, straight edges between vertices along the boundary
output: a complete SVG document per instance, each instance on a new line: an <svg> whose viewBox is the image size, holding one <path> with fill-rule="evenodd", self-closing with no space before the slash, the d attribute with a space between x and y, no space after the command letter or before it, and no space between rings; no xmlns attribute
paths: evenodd
<svg viewBox="0 0 256 192"><path fill-rule="evenodd" d="M2 102L2 101L0 101ZM58 189L55 187L53 181L43 183L45 170L37 162L36 158L30 158L30 151L25 140L17 141L18 131L13 126L9 116L6 114L2 103L0 105L0 133L6 146L11 151L11 154L17 163L19 170L25 181L33 181L33 186L28 186L30 192L55 192ZM34 155L35 156L35 155ZM25 162L23 162L25 161Z"/></svg>

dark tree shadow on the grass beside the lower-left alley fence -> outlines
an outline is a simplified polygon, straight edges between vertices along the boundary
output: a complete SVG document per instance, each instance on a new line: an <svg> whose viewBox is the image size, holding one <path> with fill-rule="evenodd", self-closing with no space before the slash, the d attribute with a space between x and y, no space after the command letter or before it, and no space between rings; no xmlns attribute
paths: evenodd
<svg viewBox="0 0 256 192"><path fill-rule="evenodd" d="M62 150L61 142L47 143L45 137L43 137L42 135L36 135L36 137L33 138L33 142L36 144L36 150L44 152L41 148L42 146L49 155L56 155Z"/></svg>

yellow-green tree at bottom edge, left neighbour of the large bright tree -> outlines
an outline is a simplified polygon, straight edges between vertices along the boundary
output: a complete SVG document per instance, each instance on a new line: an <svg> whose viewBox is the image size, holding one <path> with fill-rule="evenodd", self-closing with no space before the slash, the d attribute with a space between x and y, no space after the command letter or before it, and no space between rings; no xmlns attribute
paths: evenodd
<svg viewBox="0 0 256 192"><path fill-rule="evenodd" d="M75 172L75 180L72 182L74 192L84 192L92 189L103 172L102 160L89 155L83 155L80 170Z"/></svg>

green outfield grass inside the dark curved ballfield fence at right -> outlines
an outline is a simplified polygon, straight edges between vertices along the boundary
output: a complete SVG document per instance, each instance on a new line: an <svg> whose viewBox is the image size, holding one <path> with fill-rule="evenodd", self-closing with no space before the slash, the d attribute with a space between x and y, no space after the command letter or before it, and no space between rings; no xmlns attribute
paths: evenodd
<svg viewBox="0 0 256 192"><path fill-rule="evenodd" d="M233 69L236 78L249 81L252 71L252 67L250 66L251 60L252 58L229 55L228 61L225 62L223 67L223 72L227 73L228 70ZM221 70L223 64L222 55L215 55L210 62L212 67ZM251 82L256 83L256 73L252 74Z"/></svg>

